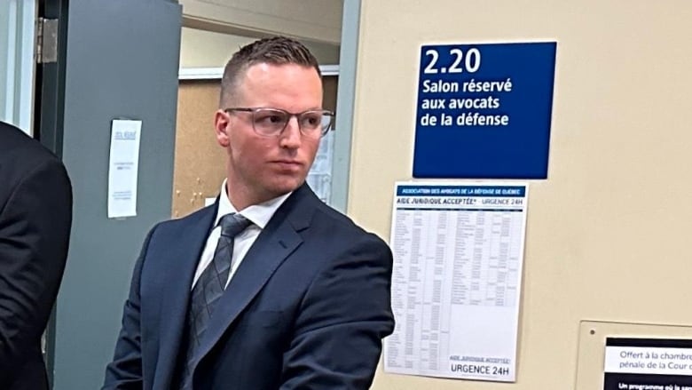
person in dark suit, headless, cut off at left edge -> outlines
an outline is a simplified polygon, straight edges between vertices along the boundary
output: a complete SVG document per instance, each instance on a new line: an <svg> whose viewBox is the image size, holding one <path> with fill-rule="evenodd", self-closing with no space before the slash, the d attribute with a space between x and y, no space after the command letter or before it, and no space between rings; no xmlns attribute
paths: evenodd
<svg viewBox="0 0 692 390"><path fill-rule="evenodd" d="M72 186L59 159L0 122L0 388L48 388L41 335L67 259Z"/></svg>

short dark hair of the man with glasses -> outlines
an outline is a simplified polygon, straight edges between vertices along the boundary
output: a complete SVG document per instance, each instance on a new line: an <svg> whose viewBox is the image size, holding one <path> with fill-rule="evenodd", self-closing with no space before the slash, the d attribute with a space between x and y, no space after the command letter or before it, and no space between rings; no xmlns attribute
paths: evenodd
<svg viewBox="0 0 692 390"><path fill-rule="evenodd" d="M259 63L271 65L295 64L306 68L315 68L318 76L318 60L305 45L286 36L271 36L247 44L235 52L224 68L221 79L221 96L219 107L232 99L238 88L238 81L243 73L251 66Z"/></svg>

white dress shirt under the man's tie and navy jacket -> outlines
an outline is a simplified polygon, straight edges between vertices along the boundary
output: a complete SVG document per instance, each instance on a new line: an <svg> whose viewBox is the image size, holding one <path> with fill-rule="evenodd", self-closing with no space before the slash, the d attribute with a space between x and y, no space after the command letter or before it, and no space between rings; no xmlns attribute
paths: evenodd
<svg viewBox="0 0 692 390"><path fill-rule="evenodd" d="M197 283L197 280L200 278L204 268L206 268L211 263L211 259L214 258L216 243L218 243L218 238L221 236L221 227L218 226L218 221L224 217L224 215L232 212L239 212L240 215L252 222L248 228L243 230L239 235L236 235L233 239L231 271L228 273L228 280L226 281L226 286L228 286L228 283L231 282L231 278L235 274L235 271L245 258L245 254L248 253L248 250L252 244L255 243L257 236L260 234L260 232L262 232L262 229L267 226L269 219L271 219L274 212L279 209L279 206L286 201L289 195L291 195L290 192L267 202L253 204L244 210L237 211L231 204L231 201L228 199L228 195L226 194L226 180L224 180L224 183L221 185L221 195L219 195L216 219L214 219L214 229L207 237L207 243L204 245L204 251L202 251L200 261L197 263L197 271L194 273L193 285L190 289L193 289L194 284Z"/></svg>

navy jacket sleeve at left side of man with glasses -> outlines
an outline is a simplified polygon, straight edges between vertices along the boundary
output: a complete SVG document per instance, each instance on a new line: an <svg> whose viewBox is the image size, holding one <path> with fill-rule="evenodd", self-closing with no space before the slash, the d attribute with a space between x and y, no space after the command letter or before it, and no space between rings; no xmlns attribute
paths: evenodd
<svg viewBox="0 0 692 390"><path fill-rule="evenodd" d="M140 329L139 288L146 250L151 242L155 227L146 236L142 251L135 263L130 283L130 294L122 309L122 328L115 344L113 362L106 366L104 390L143 388L142 380L142 336Z"/></svg>

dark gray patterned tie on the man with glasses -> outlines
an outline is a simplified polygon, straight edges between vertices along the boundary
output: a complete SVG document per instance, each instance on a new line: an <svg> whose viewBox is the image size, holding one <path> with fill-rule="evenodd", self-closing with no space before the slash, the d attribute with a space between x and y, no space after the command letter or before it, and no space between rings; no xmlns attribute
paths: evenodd
<svg viewBox="0 0 692 390"><path fill-rule="evenodd" d="M221 236L216 244L214 258L201 273L190 299L190 310L187 314L188 344L181 389L193 388L192 369L197 359L197 349L207 330L216 302L224 294L228 273L231 271L233 238L250 224L252 222L236 213L226 214L219 220Z"/></svg>

